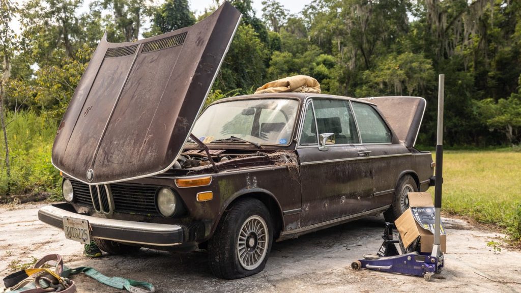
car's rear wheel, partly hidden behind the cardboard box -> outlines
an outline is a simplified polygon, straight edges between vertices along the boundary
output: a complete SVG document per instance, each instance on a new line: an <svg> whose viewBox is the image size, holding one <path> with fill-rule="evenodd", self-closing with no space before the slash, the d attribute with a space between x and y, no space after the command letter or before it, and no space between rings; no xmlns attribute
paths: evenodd
<svg viewBox="0 0 521 293"><path fill-rule="evenodd" d="M394 189L393 201L389 209L383 212L383 217L387 222L394 223L403 212L409 208L409 192L417 192L418 186L411 175L405 175L398 181Z"/></svg>

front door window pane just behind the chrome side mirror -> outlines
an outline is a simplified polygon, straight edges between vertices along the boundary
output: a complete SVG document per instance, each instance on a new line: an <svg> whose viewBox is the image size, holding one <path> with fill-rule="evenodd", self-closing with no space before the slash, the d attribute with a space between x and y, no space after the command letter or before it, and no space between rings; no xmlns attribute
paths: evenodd
<svg viewBox="0 0 521 293"><path fill-rule="evenodd" d="M334 144L359 143L355 120L349 101L313 100L318 134L334 133ZM313 133L316 131L311 129Z"/></svg>

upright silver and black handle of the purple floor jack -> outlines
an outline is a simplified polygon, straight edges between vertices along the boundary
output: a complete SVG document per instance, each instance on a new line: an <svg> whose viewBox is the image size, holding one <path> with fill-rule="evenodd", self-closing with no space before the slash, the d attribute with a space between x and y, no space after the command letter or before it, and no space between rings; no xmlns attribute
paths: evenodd
<svg viewBox="0 0 521 293"><path fill-rule="evenodd" d="M445 85L445 75L440 74L438 80L438 133L436 141L436 182L434 190L435 224L434 224L434 243L432 256L441 255L440 249L440 226L441 226L441 185L443 184L443 91Z"/></svg>

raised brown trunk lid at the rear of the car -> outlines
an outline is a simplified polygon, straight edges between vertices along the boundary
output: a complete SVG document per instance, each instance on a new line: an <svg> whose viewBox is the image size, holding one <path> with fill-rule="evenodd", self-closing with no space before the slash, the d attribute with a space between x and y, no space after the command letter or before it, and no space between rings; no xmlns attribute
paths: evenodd
<svg viewBox="0 0 521 293"><path fill-rule="evenodd" d="M364 97L378 106L389 125L398 136L400 143L412 148L421 126L427 103L419 96L379 96Z"/></svg>

